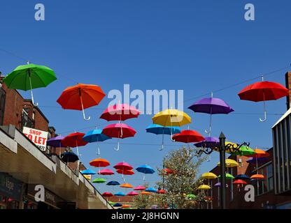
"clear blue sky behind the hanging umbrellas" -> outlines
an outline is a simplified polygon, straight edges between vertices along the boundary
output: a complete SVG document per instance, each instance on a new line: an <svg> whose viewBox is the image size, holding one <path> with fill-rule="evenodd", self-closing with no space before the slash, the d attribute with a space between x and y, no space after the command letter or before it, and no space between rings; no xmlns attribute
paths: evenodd
<svg viewBox="0 0 291 223"><path fill-rule="evenodd" d="M45 5L45 21L34 20L36 3ZM255 5L255 21L244 20L246 3ZM29 59L55 70L57 81L45 89L34 90L34 98L44 114L63 135L74 130L87 132L94 125L106 125L99 116L108 98L87 109L92 118L84 121L81 112L60 109L56 100L67 86L97 84L104 92L130 84L131 89L183 90L185 112L192 117L191 127L202 134L208 127L207 114L186 109L200 95L243 82L290 65L290 1L9 1L0 3L0 70L6 75ZM20 57L24 57L23 59ZM266 77L284 83L281 70ZM214 93L239 114L213 116L213 136L223 131L230 141L249 141L252 147L272 146L271 126L280 116L270 115L260 123L262 103L241 101L237 93L260 79ZM25 98L30 93L21 91ZM192 100L189 100L192 98ZM267 102L269 113L283 114L285 98ZM240 114L244 113L244 114ZM246 114L248 113L248 114ZM260 113L260 114L250 114ZM134 166L160 167L162 157L177 149L166 138L147 134L152 116L141 115L126 121L136 129L134 138L122 139L120 151L114 144L100 144L101 157L111 164L125 160ZM108 141L115 143L116 139ZM96 144L80 148L80 159L88 162L96 155ZM218 162L211 162L201 172ZM112 166L110 167L112 169ZM142 184L143 174L127 177L133 185ZM120 175L108 180L121 181ZM156 174L146 177L153 186ZM112 187L100 186L101 192ZM115 189L115 192L118 189Z"/></svg>

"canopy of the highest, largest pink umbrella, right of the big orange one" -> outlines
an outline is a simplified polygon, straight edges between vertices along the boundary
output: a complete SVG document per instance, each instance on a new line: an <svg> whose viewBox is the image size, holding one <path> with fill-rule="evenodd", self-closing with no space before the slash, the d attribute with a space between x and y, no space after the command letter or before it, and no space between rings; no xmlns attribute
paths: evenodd
<svg viewBox="0 0 291 223"><path fill-rule="evenodd" d="M100 118L106 121L125 121L129 118L137 118L141 111L127 104L118 104L107 107Z"/></svg>

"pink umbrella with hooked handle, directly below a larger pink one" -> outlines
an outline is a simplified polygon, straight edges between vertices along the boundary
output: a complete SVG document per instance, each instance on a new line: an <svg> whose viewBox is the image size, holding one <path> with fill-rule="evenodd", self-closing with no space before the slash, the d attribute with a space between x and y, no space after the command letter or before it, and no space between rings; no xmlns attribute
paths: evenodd
<svg viewBox="0 0 291 223"><path fill-rule="evenodd" d="M102 134L106 134L108 137L118 138L118 148L115 148L115 151L119 151L119 140L134 137L136 130L126 124L116 123L106 126L102 130Z"/></svg>

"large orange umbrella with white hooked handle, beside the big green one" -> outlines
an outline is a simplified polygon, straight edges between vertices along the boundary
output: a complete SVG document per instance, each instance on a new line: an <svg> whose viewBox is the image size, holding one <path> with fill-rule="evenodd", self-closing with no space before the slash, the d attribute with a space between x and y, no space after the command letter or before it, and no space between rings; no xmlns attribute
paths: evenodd
<svg viewBox="0 0 291 223"><path fill-rule="evenodd" d="M88 118L85 117L84 109L99 105L104 96L105 93L100 86L77 84L65 89L57 99L57 102L63 109L82 110L84 119L90 120L90 116Z"/></svg>

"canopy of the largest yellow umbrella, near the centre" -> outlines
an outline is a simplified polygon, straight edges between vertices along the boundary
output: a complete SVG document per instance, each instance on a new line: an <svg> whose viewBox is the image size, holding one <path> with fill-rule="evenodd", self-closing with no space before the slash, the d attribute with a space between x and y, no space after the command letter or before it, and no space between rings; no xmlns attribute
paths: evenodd
<svg viewBox="0 0 291 223"><path fill-rule="evenodd" d="M163 126L182 126L191 123L191 118L185 112L177 109L166 109L152 117L153 123Z"/></svg>

